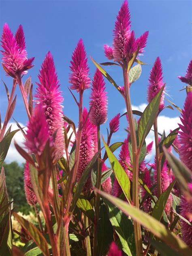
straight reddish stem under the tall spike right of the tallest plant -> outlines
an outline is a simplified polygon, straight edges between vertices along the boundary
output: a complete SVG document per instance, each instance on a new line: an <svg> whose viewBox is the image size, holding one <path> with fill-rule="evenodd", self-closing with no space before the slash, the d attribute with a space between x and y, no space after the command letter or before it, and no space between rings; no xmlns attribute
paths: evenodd
<svg viewBox="0 0 192 256"><path fill-rule="evenodd" d="M157 128L157 117L154 122L154 135L155 135L155 149L156 149L156 170L157 170L157 194L160 197L161 191L161 161L158 141L158 128Z"/></svg>

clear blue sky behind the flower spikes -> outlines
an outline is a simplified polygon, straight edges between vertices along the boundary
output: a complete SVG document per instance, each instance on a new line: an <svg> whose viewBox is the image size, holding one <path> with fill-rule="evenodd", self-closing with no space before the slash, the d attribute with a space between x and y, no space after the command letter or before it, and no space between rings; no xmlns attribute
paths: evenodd
<svg viewBox="0 0 192 256"><path fill-rule="evenodd" d="M29 70L32 82L38 81L38 70L47 51L51 51L58 71L61 90L64 96L64 113L77 123L78 110L73 102L67 87L69 63L71 54L79 38L82 38L88 56L91 77L95 66L90 60L91 55L97 62L105 62L103 45L112 44L113 28L116 15L122 0L27 0L27 1L0 1L0 31L3 24L9 24L13 32L19 24L23 25L26 36L28 56L35 56L34 68ZM149 30L149 39L145 53L141 60L153 64L156 57L160 56L163 66L164 82L170 100L180 107L186 97L186 92L179 90L184 85L177 78L184 75L190 59L192 58L191 37L191 9L190 0L130 0L129 1L132 29L136 36ZM142 66L143 72L138 81L132 84L132 105L139 106L146 102L147 79L151 65ZM118 85L123 85L122 70L116 66L106 68ZM12 79L5 77L0 69L0 77L6 81L11 90ZM124 110L124 101L113 85L106 81L109 97L108 117ZM84 93L84 106L88 107L90 90ZM4 117L6 109L6 94L1 83L0 86L0 111ZM166 109L162 115L177 117L175 110ZM17 90L17 104L13 117L25 124L27 117L19 90ZM12 120L13 121L13 120ZM108 123L102 126L102 133L106 135ZM125 133L126 119L122 118L120 134L114 140L122 140Z"/></svg>

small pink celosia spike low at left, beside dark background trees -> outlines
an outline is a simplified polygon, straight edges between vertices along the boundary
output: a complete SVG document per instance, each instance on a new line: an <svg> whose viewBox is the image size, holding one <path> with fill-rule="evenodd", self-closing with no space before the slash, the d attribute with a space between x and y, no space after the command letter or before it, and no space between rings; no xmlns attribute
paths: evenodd
<svg viewBox="0 0 192 256"><path fill-rule="evenodd" d="M36 195L32 190L31 184L31 177L30 177L30 170L29 170L29 163L26 162L24 168L24 190L26 194L26 199L29 205L34 205L37 203Z"/></svg>

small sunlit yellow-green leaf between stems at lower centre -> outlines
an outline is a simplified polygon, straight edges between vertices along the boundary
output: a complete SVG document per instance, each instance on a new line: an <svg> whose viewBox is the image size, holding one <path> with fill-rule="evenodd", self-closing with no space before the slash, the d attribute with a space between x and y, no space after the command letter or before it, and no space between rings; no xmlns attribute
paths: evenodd
<svg viewBox="0 0 192 256"><path fill-rule="evenodd" d="M90 202L83 196L80 195L77 200L77 207L87 215L87 217L94 222L94 210Z"/></svg>

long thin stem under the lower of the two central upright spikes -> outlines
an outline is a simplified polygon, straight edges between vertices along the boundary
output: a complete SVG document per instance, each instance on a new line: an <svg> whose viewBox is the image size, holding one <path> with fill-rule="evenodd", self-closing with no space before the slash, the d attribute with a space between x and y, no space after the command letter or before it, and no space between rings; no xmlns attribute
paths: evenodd
<svg viewBox="0 0 192 256"><path fill-rule="evenodd" d="M101 148L100 142L100 125L97 126L97 145L98 151ZM101 188L101 153L98 156L98 168L97 168L97 183L96 188L100 190ZM94 238L93 238L93 256L97 256L97 235L98 235L98 220L99 220L99 210L100 210L100 194L96 193L96 206L95 206L95 219L94 219Z"/></svg>

